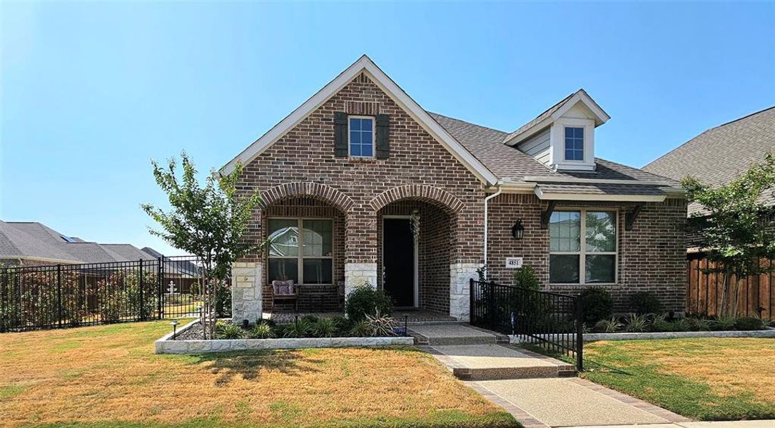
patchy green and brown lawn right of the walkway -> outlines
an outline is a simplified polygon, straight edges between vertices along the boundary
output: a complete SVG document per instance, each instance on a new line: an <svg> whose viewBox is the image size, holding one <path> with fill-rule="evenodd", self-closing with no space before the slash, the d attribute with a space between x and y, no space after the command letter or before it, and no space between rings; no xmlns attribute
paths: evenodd
<svg viewBox="0 0 775 428"><path fill-rule="evenodd" d="M773 339L601 341L584 351L584 378L681 415L775 418Z"/></svg>

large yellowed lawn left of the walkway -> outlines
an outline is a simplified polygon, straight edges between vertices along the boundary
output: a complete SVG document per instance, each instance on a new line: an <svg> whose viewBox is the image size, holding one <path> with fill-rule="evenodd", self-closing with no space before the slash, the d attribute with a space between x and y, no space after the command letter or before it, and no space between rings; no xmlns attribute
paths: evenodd
<svg viewBox="0 0 775 428"><path fill-rule="evenodd" d="M153 354L170 329L0 334L2 425L518 426L417 350Z"/></svg>

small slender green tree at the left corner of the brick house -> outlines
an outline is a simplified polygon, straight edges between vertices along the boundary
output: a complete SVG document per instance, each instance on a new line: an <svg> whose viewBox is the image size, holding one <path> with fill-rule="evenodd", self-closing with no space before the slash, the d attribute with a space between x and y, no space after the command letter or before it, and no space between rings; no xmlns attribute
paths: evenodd
<svg viewBox="0 0 775 428"><path fill-rule="evenodd" d="M257 192L237 195L236 181L242 172L241 165L220 179L215 178L215 174L208 175L205 185L201 186L196 179L197 170L185 152L181 154L183 171L180 179L174 158L168 161L166 168L155 161L151 164L153 176L167 193L172 209L164 212L150 204L141 205L161 226L161 230L150 229L150 233L173 247L194 254L201 261L205 305L202 327L205 338L209 333L212 339L219 285L226 280L229 268L237 259L262 249L265 244L250 242L245 237L260 196Z"/></svg>

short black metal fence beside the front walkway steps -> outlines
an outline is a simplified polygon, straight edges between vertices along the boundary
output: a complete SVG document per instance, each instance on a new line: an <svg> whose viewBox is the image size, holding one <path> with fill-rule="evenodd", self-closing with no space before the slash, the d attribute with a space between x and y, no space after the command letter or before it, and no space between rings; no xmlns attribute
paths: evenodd
<svg viewBox="0 0 775 428"><path fill-rule="evenodd" d="M574 355L584 369L584 323L580 300L573 295L470 281L470 323L514 335L549 353Z"/></svg>

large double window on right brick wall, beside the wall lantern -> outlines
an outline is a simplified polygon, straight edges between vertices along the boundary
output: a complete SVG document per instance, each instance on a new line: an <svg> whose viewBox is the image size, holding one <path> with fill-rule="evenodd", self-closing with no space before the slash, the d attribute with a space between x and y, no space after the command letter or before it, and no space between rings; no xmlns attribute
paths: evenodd
<svg viewBox="0 0 775 428"><path fill-rule="evenodd" d="M616 212L555 211L549 219L549 283L616 282Z"/></svg>

